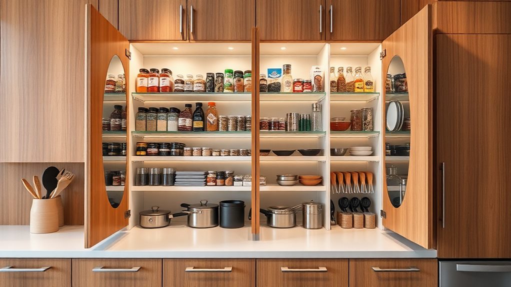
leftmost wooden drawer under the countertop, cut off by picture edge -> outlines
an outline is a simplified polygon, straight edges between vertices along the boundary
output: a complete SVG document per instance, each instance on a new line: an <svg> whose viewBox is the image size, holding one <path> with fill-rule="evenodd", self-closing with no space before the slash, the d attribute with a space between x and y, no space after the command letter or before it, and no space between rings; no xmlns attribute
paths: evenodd
<svg viewBox="0 0 511 287"><path fill-rule="evenodd" d="M0 272L0 287L71 285L71 259L0 258L0 268L8 266Z"/></svg>

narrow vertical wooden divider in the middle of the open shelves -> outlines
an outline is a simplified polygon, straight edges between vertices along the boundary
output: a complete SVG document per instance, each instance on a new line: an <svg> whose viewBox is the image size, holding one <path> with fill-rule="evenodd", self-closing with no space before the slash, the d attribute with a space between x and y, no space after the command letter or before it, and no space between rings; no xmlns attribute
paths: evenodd
<svg viewBox="0 0 511 287"><path fill-rule="evenodd" d="M252 240L259 240L259 28L252 27Z"/></svg>

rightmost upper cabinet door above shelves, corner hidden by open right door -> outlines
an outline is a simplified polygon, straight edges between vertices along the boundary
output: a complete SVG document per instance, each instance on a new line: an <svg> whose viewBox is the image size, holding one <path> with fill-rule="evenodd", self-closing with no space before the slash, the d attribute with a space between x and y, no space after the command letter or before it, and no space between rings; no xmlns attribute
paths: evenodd
<svg viewBox="0 0 511 287"><path fill-rule="evenodd" d="M326 11L331 41L381 41L400 23L400 0L327 0Z"/></svg>

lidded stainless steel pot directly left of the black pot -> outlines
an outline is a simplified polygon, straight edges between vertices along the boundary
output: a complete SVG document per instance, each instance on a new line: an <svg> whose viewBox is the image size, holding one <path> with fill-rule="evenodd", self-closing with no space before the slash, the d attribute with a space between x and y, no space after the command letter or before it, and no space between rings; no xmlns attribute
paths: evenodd
<svg viewBox="0 0 511 287"><path fill-rule="evenodd" d="M201 200L197 204L181 203L188 208L188 226L194 228L209 228L218 226L218 204Z"/></svg>

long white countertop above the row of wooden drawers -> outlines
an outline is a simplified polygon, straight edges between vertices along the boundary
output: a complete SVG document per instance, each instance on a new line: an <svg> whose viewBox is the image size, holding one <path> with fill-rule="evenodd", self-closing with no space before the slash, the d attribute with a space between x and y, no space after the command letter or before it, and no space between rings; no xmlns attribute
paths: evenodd
<svg viewBox="0 0 511 287"><path fill-rule="evenodd" d="M380 229L308 230L261 227L196 229L186 226L120 231L94 248L84 248L83 226L31 234L29 226L0 226L0 257L53 258L434 258L396 233Z"/></svg>

